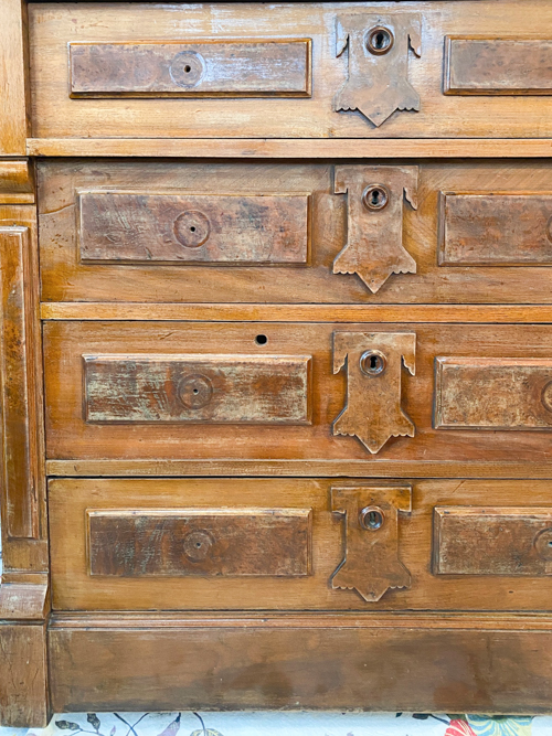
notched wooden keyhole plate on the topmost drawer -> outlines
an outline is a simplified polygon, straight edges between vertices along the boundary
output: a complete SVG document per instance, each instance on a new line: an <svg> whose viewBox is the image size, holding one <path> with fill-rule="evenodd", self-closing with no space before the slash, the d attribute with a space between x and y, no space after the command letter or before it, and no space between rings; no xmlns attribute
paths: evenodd
<svg viewBox="0 0 552 736"><path fill-rule="evenodd" d="M378 128L395 110L420 110L408 82L408 49L422 55L417 13L339 15L336 55L349 46L349 76L333 99L336 113L359 110Z"/></svg>

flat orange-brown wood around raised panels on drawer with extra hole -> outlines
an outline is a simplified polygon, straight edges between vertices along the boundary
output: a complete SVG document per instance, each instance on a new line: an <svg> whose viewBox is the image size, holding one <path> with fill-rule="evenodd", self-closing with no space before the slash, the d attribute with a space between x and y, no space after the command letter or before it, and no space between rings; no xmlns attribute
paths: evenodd
<svg viewBox="0 0 552 736"><path fill-rule="evenodd" d="M46 433L49 459L71 460L362 460L370 455L355 437L331 435L331 424L347 402L344 372L333 374L332 334L344 331L332 323L231 322L77 322L44 326ZM347 332L385 334L374 323L349 323ZM402 372L401 409L416 427L415 437L393 437L371 457L401 461L414 471L417 462L545 462L552 452L550 428L475 431L433 428L435 359L505 359L521 364L548 362L552 351L550 326L397 323L393 334L415 333L416 375ZM266 338L265 344L256 341ZM359 338L360 339L360 338ZM363 339L363 338L362 338ZM375 340L375 337L374 337ZM82 355L182 355L193 350L211 355L253 354L312 356L312 423L302 426L204 424L87 424L83 418ZM400 370L399 348L391 361ZM475 363L477 363L477 360ZM385 374L384 374L385 375ZM368 378L367 378L368 381ZM474 401L485 401L486 388ZM396 401L396 394L394 394ZM540 402L540 395L534 396ZM375 426L375 425L373 425ZM529 472L529 471L528 471Z"/></svg>

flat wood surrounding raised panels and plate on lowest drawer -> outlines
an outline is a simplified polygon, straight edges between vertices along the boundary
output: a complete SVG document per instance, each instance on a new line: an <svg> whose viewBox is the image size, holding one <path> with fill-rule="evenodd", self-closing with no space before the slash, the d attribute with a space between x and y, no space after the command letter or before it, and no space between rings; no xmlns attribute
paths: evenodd
<svg viewBox="0 0 552 736"><path fill-rule="evenodd" d="M221 469L216 470L221 476ZM532 467L530 470L532 472ZM200 472L198 469L197 474ZM316 468L311 468L311 472L316 472ZM408 511L408 486L412 486L412 511ZM332 500L332 488L342 489L337 500L344 501L344 505ZM57 610L197 610L202 611L202 617L208 610L283 610L289 616L291 611L301 610L550 612L552 576L541 573L437 575L432 570L432 559L435 506L500 508L505 513L510 510L517 513L522 502L527 513L542 513L543 509L552 509L551 488L550 466L548 478L540 480L529 477L517 480L406 477L406 480L397 481L395 476L383 481L371 477L370 468L364 468L364 474L357 479L347 476L347 468L343 468L341 478L53 479L50 481L53 606ZM370 502L371 498L374 503ZM353 506L353 502L357 505ZM357 590L335 589L332 577L346 553L349 557L349 552L353 551L349 541L346 545L346 529L349 533L349 526L346 527L342 513L335 511L350 512L347 524L353 524L359 512L376 505L384 514L391 514L392 526L396 520L393 521L391 509L382 506L392 502L401 509L393 542L395 555L410 573L410 587L389 589L380 600L372 601L367 601ZM236 514L246 513L252 508L285 508L295 513L311 509L310 575L252 578L204 574L174 576L170 580L156 575L89 575L86 510L114 513L157 510L162 513L163 510L182 508L195 509L199 514L205 509L226 509ZM362 534L364 537L381 534L383 538L385 523L380 531L367 530ZM457 541L457 544L461 542ZM511 548L516 548L514 545ZM511 559L509 550L503 548L503 565ZM364 553L364 575L357 579L362 583L363 591L370 579L378 575L369 542Z"/></svg>

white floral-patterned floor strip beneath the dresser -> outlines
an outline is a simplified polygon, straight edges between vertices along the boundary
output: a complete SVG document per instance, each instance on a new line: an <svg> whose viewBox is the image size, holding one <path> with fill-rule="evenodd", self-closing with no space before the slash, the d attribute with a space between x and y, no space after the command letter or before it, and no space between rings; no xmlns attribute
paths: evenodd
<svg viewBox="0 0 552 736"><path fill-rule="evenodd" d="M551 704L552 710L552 704ZM0 736L552 736L552 716L420 713L71 713Z"/></svg>

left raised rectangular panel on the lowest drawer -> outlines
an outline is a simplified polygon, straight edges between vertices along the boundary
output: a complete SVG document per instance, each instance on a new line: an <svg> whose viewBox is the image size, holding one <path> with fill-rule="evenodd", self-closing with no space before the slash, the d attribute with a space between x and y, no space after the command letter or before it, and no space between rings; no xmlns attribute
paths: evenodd
<svg viewBox="0 0 552 736"><path fill-rule="evenodd" d="M87 511L91 575L308 575L308 509Z"/></svg>

